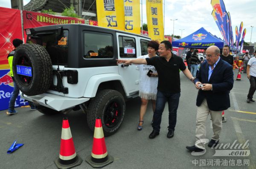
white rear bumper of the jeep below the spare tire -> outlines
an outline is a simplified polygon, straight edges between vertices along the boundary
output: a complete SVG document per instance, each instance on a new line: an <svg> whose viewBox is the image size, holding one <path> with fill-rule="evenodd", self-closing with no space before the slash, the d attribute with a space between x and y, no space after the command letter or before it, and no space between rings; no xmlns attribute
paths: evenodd
<svg viewBox="0 0 256 169"><path fill-rule="evenodd" d="M36 96L26 96L25 94L21 93L20 97L57 111L66 110L90 100L90 98L71 98L52 93L43 93Z"/></svg>

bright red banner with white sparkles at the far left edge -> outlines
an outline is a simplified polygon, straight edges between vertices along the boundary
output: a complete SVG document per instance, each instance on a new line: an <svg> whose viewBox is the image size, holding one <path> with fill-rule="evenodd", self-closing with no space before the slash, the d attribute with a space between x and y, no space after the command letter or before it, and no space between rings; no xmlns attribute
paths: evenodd
<svg viewBox="0 0 256 169"><path fill-rule="evenodd" d="M22 39L20 10L0 7L0 69L9 69L7 56L13 39Z"/></svg>

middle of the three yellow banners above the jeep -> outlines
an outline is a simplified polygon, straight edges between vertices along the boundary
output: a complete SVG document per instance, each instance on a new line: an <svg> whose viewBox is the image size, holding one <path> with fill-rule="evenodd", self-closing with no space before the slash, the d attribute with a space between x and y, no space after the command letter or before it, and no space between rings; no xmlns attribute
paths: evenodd
<svg viewBox="0 0 256 169"><path fill-rule="evenodd" d="M140 34L140 0L125 1L125 31Z"/></svg>

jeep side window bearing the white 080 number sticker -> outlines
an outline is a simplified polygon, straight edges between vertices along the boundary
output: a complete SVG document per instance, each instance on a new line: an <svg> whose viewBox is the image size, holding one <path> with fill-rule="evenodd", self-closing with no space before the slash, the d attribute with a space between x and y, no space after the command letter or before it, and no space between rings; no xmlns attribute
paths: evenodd
<svg viewBox="0 0 256 169"><path fill-rule="evenodd" d="M119 52L121 58L136 58L136 43L132 37L119 36Z"/></svg>

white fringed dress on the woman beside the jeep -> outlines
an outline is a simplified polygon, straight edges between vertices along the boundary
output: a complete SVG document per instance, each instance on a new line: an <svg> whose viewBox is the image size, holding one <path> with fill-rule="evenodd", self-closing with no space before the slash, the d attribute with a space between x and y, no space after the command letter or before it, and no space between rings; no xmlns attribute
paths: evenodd
<svg viewBox="0 0 256 169"><path fill-rule="evenodd" d="M148 58L148 54L139 56L138 58ZM157 73L156 68L151 65L137 65L137 67L140 70L140 98L147 100L156 100L158 77L147 76L149 69L153 70L153 73Z"/></svg>

